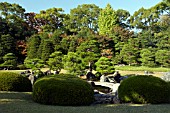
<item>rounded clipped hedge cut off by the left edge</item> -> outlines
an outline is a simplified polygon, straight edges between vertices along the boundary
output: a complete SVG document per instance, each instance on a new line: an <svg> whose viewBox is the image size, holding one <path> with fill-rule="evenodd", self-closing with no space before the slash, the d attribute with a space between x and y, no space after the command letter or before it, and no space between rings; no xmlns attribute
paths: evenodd
<svg viewBox="0 0 170 113"><path fill-rule="evenodd" d="M18 73L2 72L0 73L0 91L32 91L31 82L27 77Z"/></svg>

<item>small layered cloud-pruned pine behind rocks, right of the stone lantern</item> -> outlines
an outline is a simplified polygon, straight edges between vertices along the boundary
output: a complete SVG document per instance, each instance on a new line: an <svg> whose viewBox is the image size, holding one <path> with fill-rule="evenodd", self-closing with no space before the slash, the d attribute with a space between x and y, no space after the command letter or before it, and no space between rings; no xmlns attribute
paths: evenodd
<svg viewBox="0 0 170 113"><path fill-rule="evenodd" d="M114 73L115 69L113 63L109 58L100 57L100 59L95 63L96 71L100 72L101 74L109 74Z"/></svg>

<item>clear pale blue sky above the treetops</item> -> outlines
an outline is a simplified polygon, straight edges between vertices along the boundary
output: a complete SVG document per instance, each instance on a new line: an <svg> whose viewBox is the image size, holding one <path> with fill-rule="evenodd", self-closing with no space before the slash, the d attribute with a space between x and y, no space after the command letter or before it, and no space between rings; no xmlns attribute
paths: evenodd
<svg viewBox="0 0 170 113"><path fill-rule="evenodd" d="M141 7L149 8L162 0L0 0L1 2L17 3L27 12L39 13L52 7L62 8L66 13L81 4L95 4L104 8L108 3L115 9L128 10L131 14Z"/></svg>

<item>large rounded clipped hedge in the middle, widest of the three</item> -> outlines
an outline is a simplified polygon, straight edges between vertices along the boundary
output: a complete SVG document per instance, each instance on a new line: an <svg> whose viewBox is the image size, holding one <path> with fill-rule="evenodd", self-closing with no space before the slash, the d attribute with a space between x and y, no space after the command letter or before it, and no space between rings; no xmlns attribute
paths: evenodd
<svg viewBox="0 0 170 113"><path fill-rule="evenodd" d="M37 80L33 86L33 100L50 105L90 105L94 101L91 85L79 78L67 76L57 75Z"/></svg>

